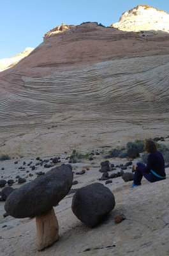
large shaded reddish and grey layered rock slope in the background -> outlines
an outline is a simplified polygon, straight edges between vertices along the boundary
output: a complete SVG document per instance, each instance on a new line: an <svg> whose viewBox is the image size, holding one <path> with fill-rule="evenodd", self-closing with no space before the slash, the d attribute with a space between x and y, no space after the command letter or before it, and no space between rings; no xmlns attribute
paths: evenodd
<svg viewBox="0 0 169 256"><path fill-rule="evenodd" d="M169 35L96 22L46 36L0 74L0 154L82 152L168 135Z"/></svg>

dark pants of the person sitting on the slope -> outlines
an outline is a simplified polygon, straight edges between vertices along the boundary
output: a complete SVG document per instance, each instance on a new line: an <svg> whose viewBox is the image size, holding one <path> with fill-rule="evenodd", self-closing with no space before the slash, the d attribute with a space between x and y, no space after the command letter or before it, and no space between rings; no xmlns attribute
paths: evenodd
<svg viewBox="0 0 169 256"><path fill-rule="evenodd" d="M141 163L140 163L140 165L141 165ZM142 177L145 177L145 179L147 179L149 182L156 182L156 181L159 181L159 180L163 180L163 179L157 177L156 175L154 175L151 172L145 173L145 172L142 172L142 171L135 170L134 180L133 180L134 184L135 185L141 185Z"/></svg>

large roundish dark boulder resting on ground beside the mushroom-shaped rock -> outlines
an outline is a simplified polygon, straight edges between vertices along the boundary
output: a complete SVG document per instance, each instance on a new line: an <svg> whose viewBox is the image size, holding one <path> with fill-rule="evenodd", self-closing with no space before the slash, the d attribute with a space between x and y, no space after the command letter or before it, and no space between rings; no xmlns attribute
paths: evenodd
<svg viewBox="0 0 169 256"><path fill-rule="evenodd" d="M98 225L114 207L114 195L110 189L100 183L78 189L71 205L78 220L91 228Z"/></svg>

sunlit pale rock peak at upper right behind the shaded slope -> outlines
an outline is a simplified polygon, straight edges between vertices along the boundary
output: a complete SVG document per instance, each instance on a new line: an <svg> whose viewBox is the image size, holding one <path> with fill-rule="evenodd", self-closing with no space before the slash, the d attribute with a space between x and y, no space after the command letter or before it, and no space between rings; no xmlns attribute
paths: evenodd
<svg viewBox="0 0 169 256"><path fill-rule="evenodd" d="M169 33L169 14L147 5L138 5L124 12L113 28L123 31L165 31Z"/></svg>

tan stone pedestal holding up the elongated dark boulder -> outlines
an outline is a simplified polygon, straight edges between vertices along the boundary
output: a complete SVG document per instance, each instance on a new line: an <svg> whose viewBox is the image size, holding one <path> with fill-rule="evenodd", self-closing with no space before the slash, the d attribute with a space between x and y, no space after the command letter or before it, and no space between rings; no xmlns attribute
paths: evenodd
<svg viewBox="0 0 169 256"><path fill-rule="evenodd" d="M36 216L36 228L38 251L52 245L59 239L59 225L54 208Z"/></svg>

